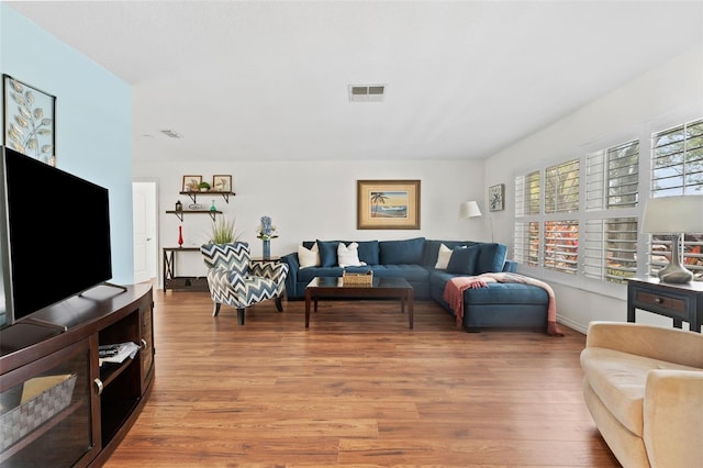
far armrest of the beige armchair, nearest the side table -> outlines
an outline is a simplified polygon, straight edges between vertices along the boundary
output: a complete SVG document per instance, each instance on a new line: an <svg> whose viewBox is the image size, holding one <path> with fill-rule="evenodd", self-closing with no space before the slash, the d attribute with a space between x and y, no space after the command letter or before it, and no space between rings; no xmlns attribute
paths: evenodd
<svg viewBox="0 0 703 468"><path fill-rule="evenodd" d="M681 328L593 321L585 347L601 347L703 369L703 335Z"/></svg>

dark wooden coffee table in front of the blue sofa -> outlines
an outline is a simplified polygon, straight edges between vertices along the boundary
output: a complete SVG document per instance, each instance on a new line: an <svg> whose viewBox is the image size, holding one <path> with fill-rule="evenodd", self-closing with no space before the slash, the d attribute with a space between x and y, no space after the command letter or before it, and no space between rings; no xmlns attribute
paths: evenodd
<svg viewBox="0 0 703 468"><path fill-rule="evenodd" d="M400 311L405 313L408 304L408 324L413 327L413 287L404 278L373 278L369 285L344 285L342 278L315 277L305 287L305 328L310 327L310 303L322 298L358 298L400 300Z"/></svg>

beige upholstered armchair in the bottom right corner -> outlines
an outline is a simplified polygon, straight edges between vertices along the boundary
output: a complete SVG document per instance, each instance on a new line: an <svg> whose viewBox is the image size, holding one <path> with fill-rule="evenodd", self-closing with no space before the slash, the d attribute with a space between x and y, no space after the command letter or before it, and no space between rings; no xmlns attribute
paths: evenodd
<svg viewBox="0 0 703 468"><path fill-rule="evenodd" d="M592 322L581 367L585 404L624 467L703 466L703 335Z"/></svg>

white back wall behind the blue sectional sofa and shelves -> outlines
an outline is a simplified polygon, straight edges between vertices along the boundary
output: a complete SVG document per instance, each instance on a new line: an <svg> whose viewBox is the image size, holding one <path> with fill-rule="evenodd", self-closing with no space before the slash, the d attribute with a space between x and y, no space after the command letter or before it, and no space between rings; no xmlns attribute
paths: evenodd
<svg viewBox="0 0 703 468"><path fill-rule="evenodd" d="M280 237L271 242L271 255L295 252L302 241L320 239L394 239L424 236L443 239L488 241L486 220L458 220L459 203L480 200L483 193L482 160L413 161L231 161L171 164L134 161L135 179L157 179L159 187L159 255L163 247L177 247L180 220L174 210L183 175L202 175L212 183L213 175L233 177L236 197L225 203L222 197L199 196L198 202L215 207L236 219L242 239L252 245L252 254L261 255L256 238L260 216L272 218ZM420 179L420 230L357 230L356 181L359 179ZM208 239L210 218L186 215L183 246L200 246ZM182 258L182 260L181 260ZM159 261L160 264L160 261ZM204 275L199 254L180 254L177 275ZM160 274L159 274L160 275ZM160 278L160 276L159 276Z"/></svg>

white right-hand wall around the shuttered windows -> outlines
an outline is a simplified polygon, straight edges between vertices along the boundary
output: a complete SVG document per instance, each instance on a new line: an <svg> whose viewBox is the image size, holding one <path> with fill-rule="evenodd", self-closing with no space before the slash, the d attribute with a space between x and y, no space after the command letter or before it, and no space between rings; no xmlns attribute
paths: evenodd
<svg viewBox="0 0 703 468"><path fill-rule="evenodd" d="M517 174L536 168L537 164L581 156L600 144L622 143L627 136L701 116L703 47L696 47L489 158L486 185L505 183L506 193L506 210L493 220L500 233L496 241L506 244L512 253L513 180ZM648 141L643 142L646 145ZM640 167L640 171L648 169ZM557 272L529 274L542 276L555 288L559 322L585 332L593 320L626 321L625 286L618 286L615 293L603 294L573 286L571 277L563 281L566 276ZM638 311L637 321L671 326L669 319L647 312Z"/></svg>

